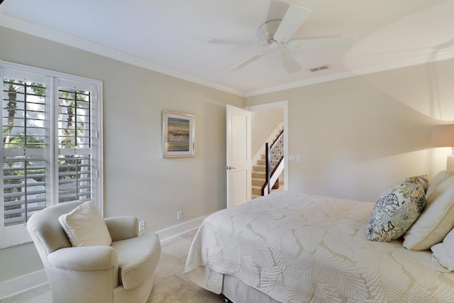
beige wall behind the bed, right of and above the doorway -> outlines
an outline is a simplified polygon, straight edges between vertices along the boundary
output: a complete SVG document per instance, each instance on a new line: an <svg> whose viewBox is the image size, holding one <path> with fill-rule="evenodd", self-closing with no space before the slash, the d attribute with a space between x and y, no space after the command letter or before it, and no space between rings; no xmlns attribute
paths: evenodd
<svg viewBox="0 0 454 303"><path fill-rule="evenodd" d="M445 169L431 126L454 120L454 60L246 99L289 101L289 189L373 201L393 182ZM445 122L444 122L445 123Z"/></svg>

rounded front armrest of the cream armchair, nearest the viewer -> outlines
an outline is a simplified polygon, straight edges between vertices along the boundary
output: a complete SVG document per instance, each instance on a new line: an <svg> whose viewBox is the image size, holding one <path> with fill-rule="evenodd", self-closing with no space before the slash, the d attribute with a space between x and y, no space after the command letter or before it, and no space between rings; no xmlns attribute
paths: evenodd
<svg viewBox="0 0 454 303"><path fill-rule="evenodd" d="M55 268L75 271L118 268L118 256L111 246L79 246L60 248L48 255Z"/></svg>

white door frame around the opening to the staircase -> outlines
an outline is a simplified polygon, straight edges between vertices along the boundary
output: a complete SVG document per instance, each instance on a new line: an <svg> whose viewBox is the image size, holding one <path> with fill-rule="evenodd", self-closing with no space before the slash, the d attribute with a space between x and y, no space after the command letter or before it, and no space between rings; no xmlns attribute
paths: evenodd
<svg viewBox="0 0 454 303"><path fill-rule="evenodd" d="M276 101L265 104L245 106L248 111L261 109L284 109L284 190L289 190L289 101Z"/></svg>

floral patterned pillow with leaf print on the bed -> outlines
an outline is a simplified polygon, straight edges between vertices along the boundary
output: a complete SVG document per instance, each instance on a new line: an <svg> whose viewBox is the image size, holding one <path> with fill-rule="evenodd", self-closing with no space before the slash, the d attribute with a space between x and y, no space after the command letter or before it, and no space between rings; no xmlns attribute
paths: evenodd
<svg viewBox="0 0 454 303"><path fill-rule="evenodd" d="M426 191L421 182L405 180L392 184L372 209L367 240L386 242L400 238L418 219L425 204Z"/></svg>

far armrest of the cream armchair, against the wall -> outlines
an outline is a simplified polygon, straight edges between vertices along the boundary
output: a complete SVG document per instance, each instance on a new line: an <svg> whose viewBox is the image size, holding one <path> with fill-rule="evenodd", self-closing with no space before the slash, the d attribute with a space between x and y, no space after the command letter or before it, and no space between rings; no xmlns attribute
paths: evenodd
<svg viewBox="0 0 454 303"><path fill-rule="evenodd" d="M113 216L105 218L112 241L135 238L139 235L139 221L133 216Z"/></svg>

